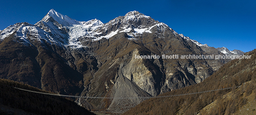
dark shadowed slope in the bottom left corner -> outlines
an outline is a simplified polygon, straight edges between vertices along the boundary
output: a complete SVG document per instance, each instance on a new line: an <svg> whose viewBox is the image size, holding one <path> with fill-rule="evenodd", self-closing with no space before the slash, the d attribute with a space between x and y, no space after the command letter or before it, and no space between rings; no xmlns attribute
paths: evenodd
<svg viewBox="0 0 256 115"><path fill-rule="evenodd" d="M95 115L75 102L28 84L0 79L0 115Z"/></svg>

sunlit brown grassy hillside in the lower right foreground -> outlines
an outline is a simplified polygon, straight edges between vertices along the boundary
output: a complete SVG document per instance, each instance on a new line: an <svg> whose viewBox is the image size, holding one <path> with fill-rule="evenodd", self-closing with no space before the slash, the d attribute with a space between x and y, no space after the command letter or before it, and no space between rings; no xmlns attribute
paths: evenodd
<svg viewBox="0 0 256 115"><path fill-rule="evenodd" d="M256 98L254 95L256 92L256 50L248 52L247 55L252 55L251 59L233 60L226 63L219 71L200 84L171 91L160 96L233 87L230 90L151 98L130 109L124 115L194 115L198 113L204 115L205 112L210 115L239 114L240 110L243 110L241 108L248 104L247 100L252 100L249 98L251 94L253 94L253 98ZM250 84L245 84L248 81ZM236 88L236 86L241 87ZM225 98L226 95L230 95L231 98ZM210 104L212 104L211 109L204 111L205 107Z"/></svg>

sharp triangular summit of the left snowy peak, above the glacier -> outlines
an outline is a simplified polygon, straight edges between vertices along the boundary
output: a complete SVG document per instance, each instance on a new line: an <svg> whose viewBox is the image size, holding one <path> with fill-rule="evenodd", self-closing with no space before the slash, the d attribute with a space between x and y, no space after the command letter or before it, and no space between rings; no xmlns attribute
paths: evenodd
<svg viewBox="0 0 256 115"><path fill-rule="evenodd" d="M63 14L51 9L46 16L43 17L42 21L47 22L49 18L53 18L62 26L72 26L73 24L84 24L85 21L76 21L74 19L69 18L68 16L64 16Z"/></svg>

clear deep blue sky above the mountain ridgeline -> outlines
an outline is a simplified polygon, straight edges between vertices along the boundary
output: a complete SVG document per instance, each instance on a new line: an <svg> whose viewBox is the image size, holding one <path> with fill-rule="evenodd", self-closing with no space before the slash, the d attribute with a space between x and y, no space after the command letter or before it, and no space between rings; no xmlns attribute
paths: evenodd
<svg viewBox="0 0 256 115"><path fill-rule="evenodd" d="M256 48L256 0L1 0L0 30L17 22L35 24L51 9L103 23L137 10L202 44Z"/></svg>

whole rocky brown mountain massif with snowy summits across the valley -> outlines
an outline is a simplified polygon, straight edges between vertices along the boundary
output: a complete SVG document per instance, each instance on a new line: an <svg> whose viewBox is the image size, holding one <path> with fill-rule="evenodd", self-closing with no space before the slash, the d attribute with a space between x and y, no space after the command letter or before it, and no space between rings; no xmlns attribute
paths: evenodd
<svg viewBox="0 0 256 115"><path fill-rule="evenodd" d="M0 32L0 78L59 94L133 97L75 100L91 110L123 113L144 100L136 97L200 83L228 61L181 59L189 54L224 55L138 11L103 24L75 21L50 10L35 25L16 23Z"/></svg>

